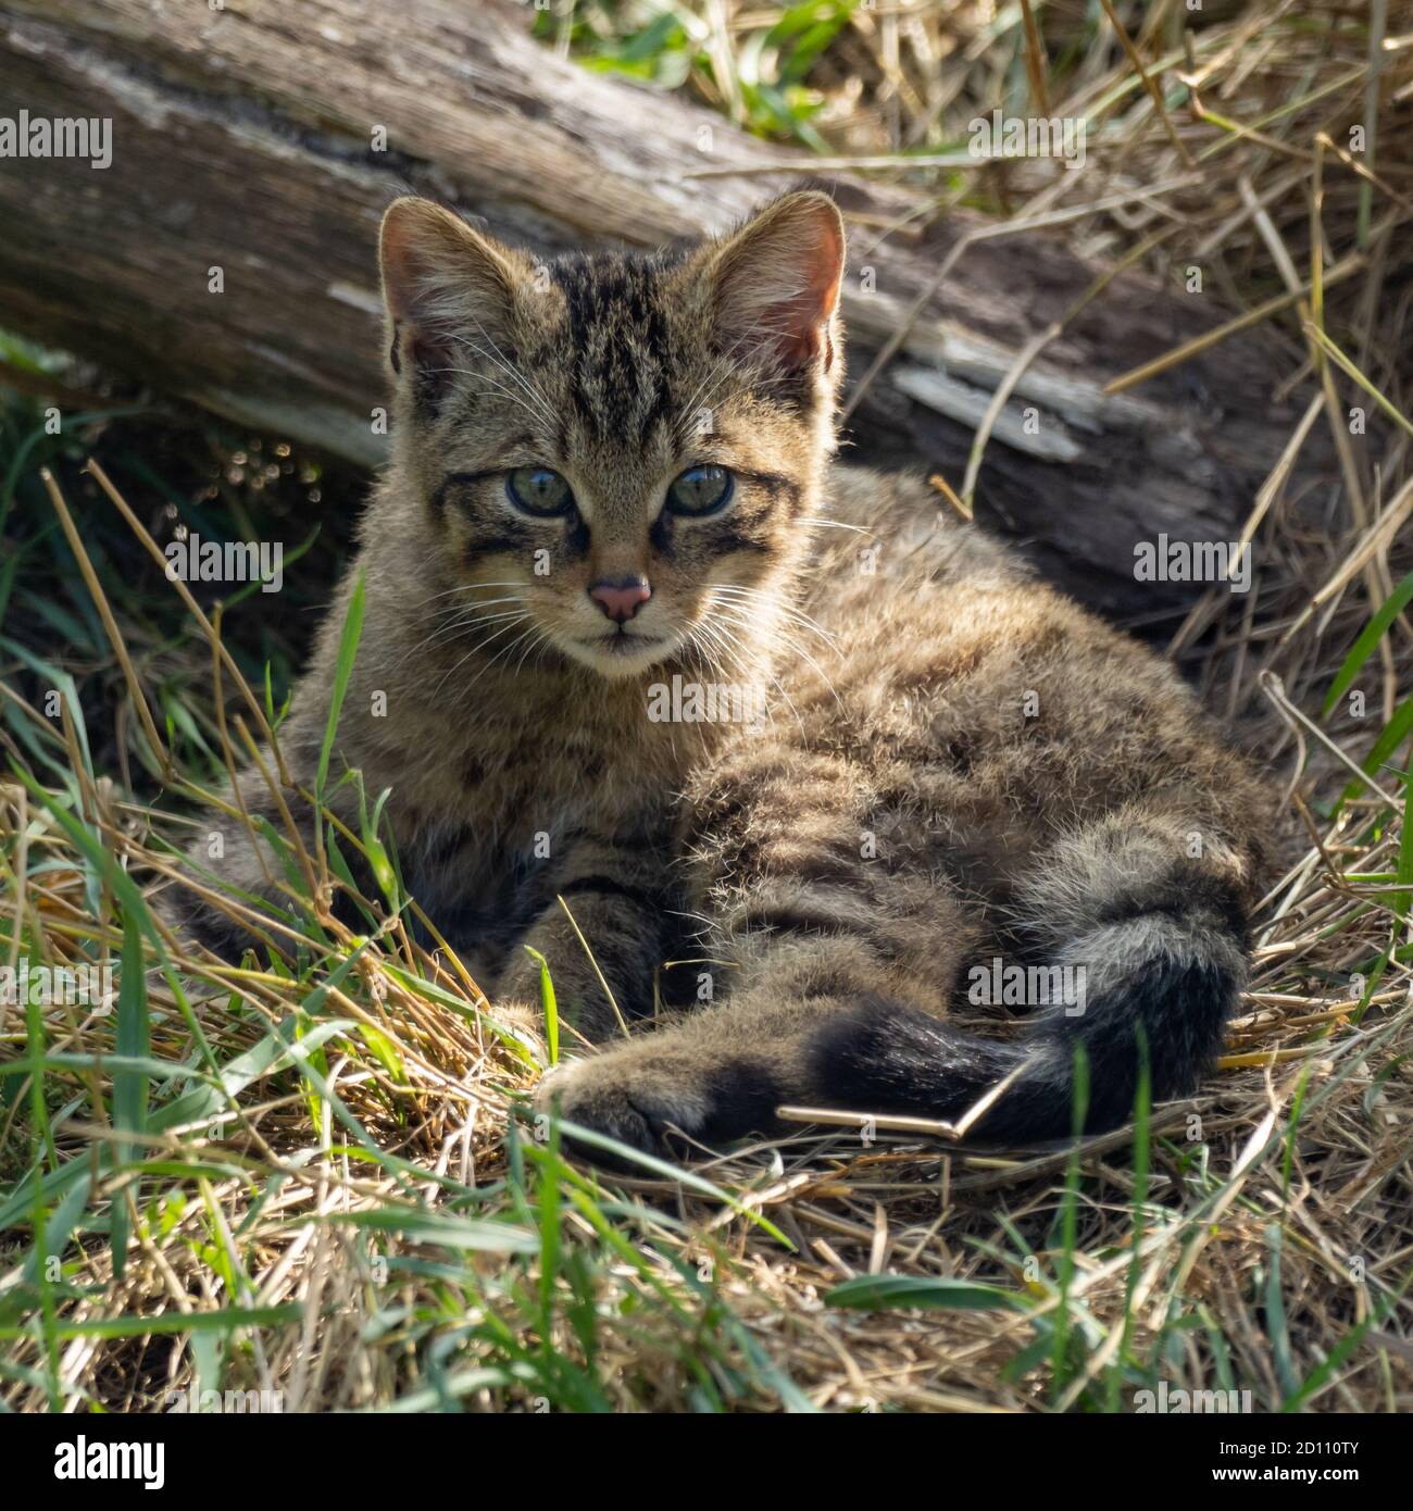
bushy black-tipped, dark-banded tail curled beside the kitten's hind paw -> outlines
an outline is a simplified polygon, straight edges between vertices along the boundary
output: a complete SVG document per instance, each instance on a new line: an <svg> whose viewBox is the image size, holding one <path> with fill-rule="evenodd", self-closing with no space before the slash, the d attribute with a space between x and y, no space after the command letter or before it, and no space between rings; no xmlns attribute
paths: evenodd
<svg viewBox="0 0 1413 1511"><path fill-rule="evenodd" d="M1073 1129L1076 1046L1088 1061L1087 1132L1132 1114L1141 1044L1155 1102L1194 1091L1245 982L1244 911L1210 875L1141 890L1147 896L1130 895L1126 908L1105 899L1094 911L1112 922L1091 922L1050 955L1082 991L1044 1008L1023 1038L988 1040L916 1008L866 1000L813 1040L819 1094L831 1106L955 1121L1016 1071L970 1136L1023 1144Z"/></svg>

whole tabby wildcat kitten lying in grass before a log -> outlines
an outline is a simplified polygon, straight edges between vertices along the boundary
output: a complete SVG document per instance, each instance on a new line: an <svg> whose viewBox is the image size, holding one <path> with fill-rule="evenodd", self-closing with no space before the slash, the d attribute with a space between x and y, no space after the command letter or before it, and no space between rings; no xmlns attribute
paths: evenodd
<svg viewBox="0 0 1413 1511"><path fill-rule="evenodd" d="M1111 1126L1138 1031L1188 1092L1245 978L1262 784L920 482L831 467L843 266L816 192L672 255L540 264L420 199L382 225L393 459L339 752L497 1012L538 1012L527 944L606 1046L541 1100L641 1148L789 1102L957 1117L1013 1071L976 1135L1049 1138L1076 1044ZM281 736L305 784L349 591ZM766 716L692 719L704 684ZM222 869L275 896L258 861ZM712 1003L623 1040L668 958ZM1070 990L1019 1041L951 1024L1002 963Z"/></svg>

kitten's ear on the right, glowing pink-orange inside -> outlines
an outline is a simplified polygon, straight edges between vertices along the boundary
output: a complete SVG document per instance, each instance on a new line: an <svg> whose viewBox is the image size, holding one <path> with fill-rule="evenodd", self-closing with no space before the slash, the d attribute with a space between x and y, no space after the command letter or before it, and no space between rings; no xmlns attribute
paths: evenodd
<svg viewBox="0 0 1413 1511"><path fill-rule="evenodd" d="M843 218L827 193L783 195L710 252L716 329L725 346L787 369L834 363Z"/></svg>

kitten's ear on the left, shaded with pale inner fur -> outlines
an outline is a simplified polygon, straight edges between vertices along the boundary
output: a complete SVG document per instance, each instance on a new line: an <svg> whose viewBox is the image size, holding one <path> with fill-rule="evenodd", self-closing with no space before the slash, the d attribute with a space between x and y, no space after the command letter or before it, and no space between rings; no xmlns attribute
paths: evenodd
<svg viewBox="0 0 1413 1511"><path fill-rule="evenodd" d="M440 394L458 352L511 343L515 290L526 277L520 254L473 231L461 216L431 199L388 205L379 236L388 361Z"/></svg>

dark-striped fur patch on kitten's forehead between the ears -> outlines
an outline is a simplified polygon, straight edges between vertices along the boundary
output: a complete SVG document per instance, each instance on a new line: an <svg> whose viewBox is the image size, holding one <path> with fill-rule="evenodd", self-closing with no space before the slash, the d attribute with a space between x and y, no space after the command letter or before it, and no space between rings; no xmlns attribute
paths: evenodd
<svg viewBox="0 0 1413 1511"><path fill-rule="evenodd" d="M656 258L564 257L570 403L595 440L642 444L674 414L676 354Z"/></svg>

